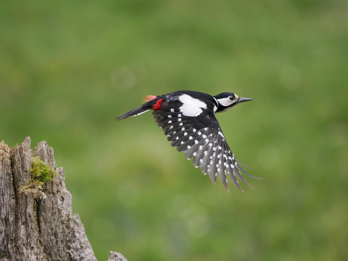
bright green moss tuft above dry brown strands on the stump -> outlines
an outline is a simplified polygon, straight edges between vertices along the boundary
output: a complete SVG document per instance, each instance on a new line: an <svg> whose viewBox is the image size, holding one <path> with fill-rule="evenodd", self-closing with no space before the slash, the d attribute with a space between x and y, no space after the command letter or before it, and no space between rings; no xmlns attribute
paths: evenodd
<svg viewBox="0 0 348 261"><path fill-rule="evenodd" d="M31 168L29 169L31 178L40 182L46 183L49 180L53 180L54 177L58 176L57 172L50 166L47 166L40 157L31 158Z"/></svg>

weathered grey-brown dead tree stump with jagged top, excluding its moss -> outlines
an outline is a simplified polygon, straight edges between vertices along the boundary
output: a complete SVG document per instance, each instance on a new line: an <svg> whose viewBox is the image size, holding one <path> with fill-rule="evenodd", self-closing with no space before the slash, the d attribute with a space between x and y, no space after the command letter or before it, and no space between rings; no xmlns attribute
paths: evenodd
<svg viewBox="0 0 348 261"><path fill-rule="evenodd" d="M0 143L0 261L96 260L78 214L72 214L71 194L65 188L64 170L56 168L53 149L38 143L39 156L58 173L45 184L46 199L19 193L31 179L33 156L30 137L14 148ZM125 261L110 252L109 260Z"/></svg>

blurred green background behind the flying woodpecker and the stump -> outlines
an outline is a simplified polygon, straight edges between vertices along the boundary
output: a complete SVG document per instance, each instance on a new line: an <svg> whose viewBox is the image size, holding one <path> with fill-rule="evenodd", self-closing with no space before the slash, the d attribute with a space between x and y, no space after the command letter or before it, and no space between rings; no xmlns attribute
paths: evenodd
<svg viewBox="0 0 348 261"><path fill-rule="evenodd" d="M348 3L5 1L0 140L46 140L98 260L348 259ZM241 193L166 140L145 95L235 92L218 114L263 180Z"/></svg>

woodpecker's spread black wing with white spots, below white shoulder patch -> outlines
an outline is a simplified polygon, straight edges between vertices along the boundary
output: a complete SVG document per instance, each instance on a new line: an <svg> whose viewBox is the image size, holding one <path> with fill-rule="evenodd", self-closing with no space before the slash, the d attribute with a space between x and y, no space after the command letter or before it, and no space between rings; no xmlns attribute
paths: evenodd
<svg viewBox="0 0 348 261"><path fill-rule="evenodd" d="M201 113L192 117L184 116L181 108L180 101L165 100L160 104L160 110L152 112L158 126L165 132L171 145L178 151L184 152L187 159L193 157L193 165L196 168L200 167L204 175L208 173L214 185L216 176L219 175L228 191L227 172L232 183L241 191L243 189L238 184L236 176L252 187L240 171L254 179L260 178L247 173L237 164L219 122L215 118L214 111L201 108Z"/></svg>

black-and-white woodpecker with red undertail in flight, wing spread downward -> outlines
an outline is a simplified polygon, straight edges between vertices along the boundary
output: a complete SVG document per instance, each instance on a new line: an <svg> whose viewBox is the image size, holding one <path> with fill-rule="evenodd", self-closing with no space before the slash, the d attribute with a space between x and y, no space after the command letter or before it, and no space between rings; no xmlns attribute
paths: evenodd
<svg viewBox="0 0 348 261"><path fill-rule="evenodd" d="M167 140L178 151L184 152L187 159L193 157L193 165L200 167L204 175L208 173L215 185L216 176L228 190L227 177L242 192L236 176L250 185L242 176L241 172L254 178L247 173L231 152L215 113L224 112L233 106L251 98L242 98L234 93L220 93L211 96L206 93L183 90L165 95L148 95L144 98L144 104L134 110L128 111L116 119L139 116L152 110L157 125L167 135ZM248 168L248 167L247 167Z"/></svg>

